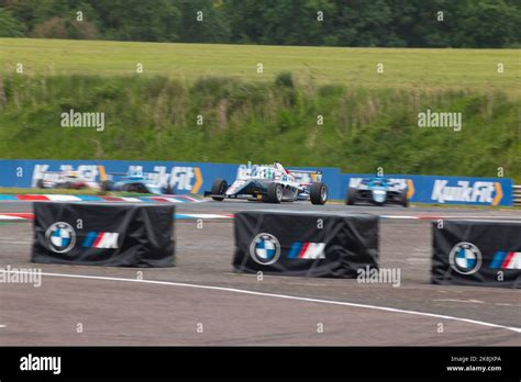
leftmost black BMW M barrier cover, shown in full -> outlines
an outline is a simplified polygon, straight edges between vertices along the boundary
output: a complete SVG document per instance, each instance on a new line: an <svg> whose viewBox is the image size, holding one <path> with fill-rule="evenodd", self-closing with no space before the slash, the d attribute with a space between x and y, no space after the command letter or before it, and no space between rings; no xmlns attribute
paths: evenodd
<svg viewBox="0 0 521 382"><path fill-rule="evenodd" d="M173 205L34 203L33 262L174 267Z"/></svg>

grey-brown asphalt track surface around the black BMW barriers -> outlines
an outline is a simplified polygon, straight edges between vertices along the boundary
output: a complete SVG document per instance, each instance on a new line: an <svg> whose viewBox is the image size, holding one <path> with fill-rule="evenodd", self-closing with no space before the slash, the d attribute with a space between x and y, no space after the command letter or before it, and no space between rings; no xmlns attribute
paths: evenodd
<svg viewBox="0 0 521 382"><path fill-rule="evenodd" d="M400 285L234 273L233 220L204 221L202 227L177 222L176 267L168 269L33 265L32 224L0 223L0 269L44 272L40 288L0 284L0 344L521 345L520 291L431 284L431 223L404 218L521 220L519 210L233 201L176 207L179 213L266 209L396 216L380 224L380 267L399 268ZM30 211L30 203L0 203L0 213Z"/></svg>

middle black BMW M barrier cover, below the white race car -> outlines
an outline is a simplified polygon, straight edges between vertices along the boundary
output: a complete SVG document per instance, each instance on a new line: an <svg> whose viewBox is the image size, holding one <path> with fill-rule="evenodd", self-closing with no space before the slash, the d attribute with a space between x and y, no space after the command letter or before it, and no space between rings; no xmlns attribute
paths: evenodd
<svg viewBox="0 0 521 382"><path fill-rule="evenodd" d="M355 278L376 269L378 217L247 211L235 214L235 256L240 272Z"/></svg>

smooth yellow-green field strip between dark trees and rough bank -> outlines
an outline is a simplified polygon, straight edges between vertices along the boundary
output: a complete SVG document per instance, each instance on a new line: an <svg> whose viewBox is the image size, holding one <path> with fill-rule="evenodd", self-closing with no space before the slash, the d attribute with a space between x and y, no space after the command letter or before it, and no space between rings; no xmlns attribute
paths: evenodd
<svg viewBox="0 0 521 382"><path fill-rule="evenodd" d="M135 74L192 82L201 76L273 80L280 71L299 83L353 88L502 90L521 93L520 49L411 49L159 44L101 41L0 38L0 70L27 75ZM257 74L257 64L264 72ZM377 65L384 64L384 74ZM498 63L505 72L498 74Z"/></svg>

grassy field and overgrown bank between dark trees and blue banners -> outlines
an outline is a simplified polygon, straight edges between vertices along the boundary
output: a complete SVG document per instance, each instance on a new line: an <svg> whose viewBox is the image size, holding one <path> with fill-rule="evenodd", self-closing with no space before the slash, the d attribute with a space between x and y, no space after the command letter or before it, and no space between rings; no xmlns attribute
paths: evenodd
<svg viewBox="0 0 521 382"><path fill-rule="evenodd" d="M0 38L0 70L2 158L280 160L489 177L502 167L521 180L519 49ZM60 127L70 109L104 112L104 132ZM463 130L418 127L426 109L462 112Z"/></svg>

